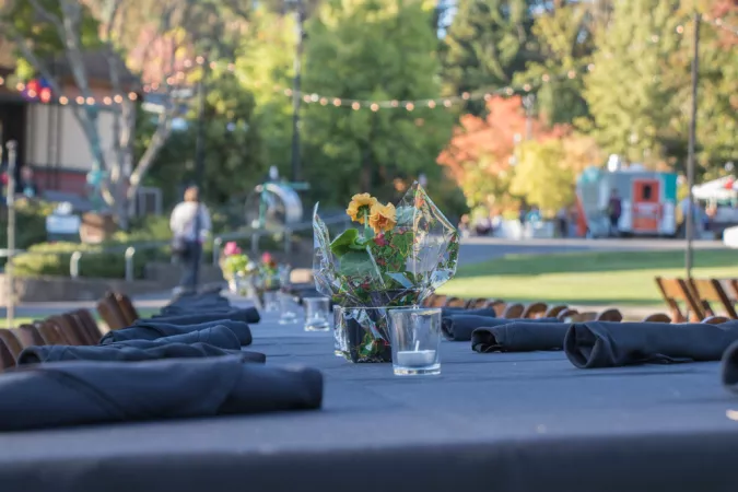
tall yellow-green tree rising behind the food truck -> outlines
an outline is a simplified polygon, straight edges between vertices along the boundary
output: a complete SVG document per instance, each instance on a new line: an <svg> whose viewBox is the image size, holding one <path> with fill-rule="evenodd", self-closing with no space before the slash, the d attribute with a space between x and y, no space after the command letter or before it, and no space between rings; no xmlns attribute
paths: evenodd
<svg viewBox="0 0 738 492"><path fill-rule="evenodd" d="M621 0L607 30L597 30L594 70L585 78L593 134L605 150L635 162L667 153L675 117L669 63L681 49L678 0Z"/></svg>

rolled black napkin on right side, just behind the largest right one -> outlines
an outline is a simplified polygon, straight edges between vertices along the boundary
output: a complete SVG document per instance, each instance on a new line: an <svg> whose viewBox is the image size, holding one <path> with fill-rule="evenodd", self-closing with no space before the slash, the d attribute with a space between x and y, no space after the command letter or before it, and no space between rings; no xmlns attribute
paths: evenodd
<svg viewBox="0 0 738 492"><path fill-rule="evenodd" d="M489 328L478 328L471 333L471 348L482 353L561 350L571 325L559 323L555 318L554 321L550 319L552 318L520 319Z"/></svg>

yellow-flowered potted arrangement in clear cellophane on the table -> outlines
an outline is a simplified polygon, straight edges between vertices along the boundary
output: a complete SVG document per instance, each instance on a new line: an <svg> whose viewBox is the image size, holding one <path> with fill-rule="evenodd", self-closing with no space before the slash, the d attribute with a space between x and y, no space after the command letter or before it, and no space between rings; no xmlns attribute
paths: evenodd
<svg viewBox="0 0 738 492"><path fill-rule="evenodd" d="M316 204L316 288L335 303L356 308L350 311L361 332L349 333L349 340L355 341L350 343L351 360L387 361L386 317L380 319L376 309L366 308L418 305L450 280L458 259L458 232L417 183L397 206L384 204L370 194L354 195L345 212L362 227L348 229L333 241L317 210Z"/></svg>

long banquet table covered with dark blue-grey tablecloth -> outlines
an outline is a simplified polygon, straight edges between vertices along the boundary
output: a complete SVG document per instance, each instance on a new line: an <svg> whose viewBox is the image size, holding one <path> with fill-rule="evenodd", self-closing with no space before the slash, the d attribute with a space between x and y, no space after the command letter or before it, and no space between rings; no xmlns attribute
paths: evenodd
<svg viewBox="0 0 738 492"><path fill-rule="evenodd" d="M583 371L444 341L441 376L395 377L274 316L253 333L268 364L323 371L321 410L0 434L0 491L738 490L718 363Z"/></svg>

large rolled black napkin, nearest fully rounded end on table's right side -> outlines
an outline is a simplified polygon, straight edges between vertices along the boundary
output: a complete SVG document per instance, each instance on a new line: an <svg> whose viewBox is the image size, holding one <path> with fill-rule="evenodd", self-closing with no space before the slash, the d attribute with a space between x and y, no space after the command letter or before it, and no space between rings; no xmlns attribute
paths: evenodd
<svg viewBox="0 0 738 492"><path fill-rule="evenodd" d="M738 340L738 321L577 323L564 340L566 356L577 367L617 367L644 363L719 361Z"/></svg>

